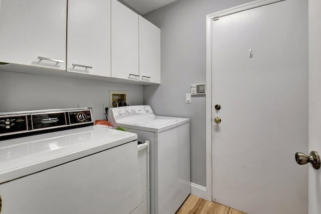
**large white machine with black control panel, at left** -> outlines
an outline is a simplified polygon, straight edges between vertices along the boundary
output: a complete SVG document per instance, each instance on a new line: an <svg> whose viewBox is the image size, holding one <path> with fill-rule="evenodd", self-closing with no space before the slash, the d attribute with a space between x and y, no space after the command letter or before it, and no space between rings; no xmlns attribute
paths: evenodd
<svg viewBox="0 0 321 214"><path fill-rule="evenodd" d="M91 109L1 113L0 140L1 213L137 206L137 135L93 126Z"/></svg>

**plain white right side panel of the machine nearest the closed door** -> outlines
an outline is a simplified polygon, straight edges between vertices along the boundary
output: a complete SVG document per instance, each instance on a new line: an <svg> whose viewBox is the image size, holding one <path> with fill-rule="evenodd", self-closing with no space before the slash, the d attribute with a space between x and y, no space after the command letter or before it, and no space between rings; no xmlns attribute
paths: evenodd
<svg viewBox="0 0 321 214"><path fill-rule="evenodd" d="M190 123L156 135L155 213L175 213L191 193Z"/></svg>

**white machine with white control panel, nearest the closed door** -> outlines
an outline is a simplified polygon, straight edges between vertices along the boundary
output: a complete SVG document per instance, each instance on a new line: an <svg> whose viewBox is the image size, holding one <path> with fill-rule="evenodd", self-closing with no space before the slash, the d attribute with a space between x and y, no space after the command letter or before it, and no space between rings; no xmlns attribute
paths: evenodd
<svg viewBox="0 0 321 214"><path fill-rule="evenodd" d="M155 116L148 105L108 111L108 122L149 141L150 213L172 214L191 193L190 119Z"/></svg>

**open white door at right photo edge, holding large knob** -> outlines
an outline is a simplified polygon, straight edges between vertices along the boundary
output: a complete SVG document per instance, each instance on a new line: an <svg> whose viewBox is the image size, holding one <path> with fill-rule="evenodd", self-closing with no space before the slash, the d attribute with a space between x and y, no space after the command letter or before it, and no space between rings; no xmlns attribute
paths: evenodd
<svg viewBox="0 0 321 214"><path fill-rule="evenodd" d="M309 0L309 149L321 153L321 1ZM303 151L302 151L303 152ZM308 164L309 165L309 164ZM309 214L321 213L321 170L309 169Z"/></svg>

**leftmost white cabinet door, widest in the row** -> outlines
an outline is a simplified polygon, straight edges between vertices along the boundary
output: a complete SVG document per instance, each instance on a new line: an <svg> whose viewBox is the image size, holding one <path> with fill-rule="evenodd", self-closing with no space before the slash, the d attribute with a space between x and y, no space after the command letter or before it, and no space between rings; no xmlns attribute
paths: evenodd
<svg viewBox="0 0 321 214"><path fill-rule="evenodd" d="M67 0L1 0L0 61L66 70Z"/></svg>

